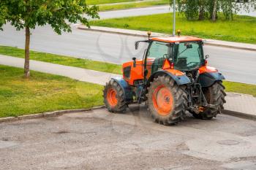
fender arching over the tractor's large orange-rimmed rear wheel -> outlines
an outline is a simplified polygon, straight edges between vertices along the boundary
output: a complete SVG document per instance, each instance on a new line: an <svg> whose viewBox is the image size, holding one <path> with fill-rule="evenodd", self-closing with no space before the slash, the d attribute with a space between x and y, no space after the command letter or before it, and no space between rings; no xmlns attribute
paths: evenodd
<svg viewBox="0 0 256 170"><path fill-rule="evenodd" d="M177 85L187 85L190 83L189 77L187 77L185 74L175 75L175 74L172 74L171 72L168 72L167 70L159 70L157 72L154 72L154 74L152 74L151 77L149 77L147 86L149 86L150 82L154 80L154 77L157 77L161 74L167 74L170 77L172 77L173 80L176 81Z"/></svg>

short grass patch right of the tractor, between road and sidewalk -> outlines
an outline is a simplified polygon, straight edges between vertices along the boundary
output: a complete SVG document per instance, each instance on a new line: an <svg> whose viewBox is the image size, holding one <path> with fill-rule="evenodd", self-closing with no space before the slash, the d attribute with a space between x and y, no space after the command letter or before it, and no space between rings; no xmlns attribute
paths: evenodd
<svg viewBox="0 0 256 170"><path fill-rule="evenodd" d="M223 83L227 92L250 94L256 97L256 85L247 85L239 82L227 82Z"/></svg>

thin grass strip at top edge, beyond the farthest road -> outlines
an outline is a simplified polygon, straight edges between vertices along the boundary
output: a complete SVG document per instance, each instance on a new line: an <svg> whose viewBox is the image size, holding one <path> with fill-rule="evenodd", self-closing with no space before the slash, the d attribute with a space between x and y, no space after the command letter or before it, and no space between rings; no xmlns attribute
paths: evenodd
<svg viewBox="0 0 256 170"><path fill-rule="evenodd" d="M142 1L138 3L129 4L113 4L113 5L100 5L99 11L116 10L116 9L130 9L130 8L140 8L140 7L152 7L157 5L169 4L169 0L159 0L159 1Z"/></svg>

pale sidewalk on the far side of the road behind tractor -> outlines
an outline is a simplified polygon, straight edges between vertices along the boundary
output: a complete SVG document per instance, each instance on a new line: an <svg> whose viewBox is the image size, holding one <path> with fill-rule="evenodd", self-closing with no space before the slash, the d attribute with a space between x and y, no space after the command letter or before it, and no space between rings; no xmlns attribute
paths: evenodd
<svg viewBox="0 0 256 170"><path fill-rule="evenodd" d="M86 26L83 26L83 25L77 25L76 27L78 29L86 30L86 31L98 31L98 32L104 32L104 33L110 33L110 34L148 37L147 31L137 31L137 30L129 30L129 29L121 29L121 28L108 28L108 27L101 27L101 26L91 26L91 28L87 28ZM170 36L170 35L152 32L151 36ZM225 42L225 41L220 41L216 39L206 39L205 44L217 46L217 47L230 47L230 48L241 49L241 50L256 51L256 45L239 43L239 42Z"/></svg>

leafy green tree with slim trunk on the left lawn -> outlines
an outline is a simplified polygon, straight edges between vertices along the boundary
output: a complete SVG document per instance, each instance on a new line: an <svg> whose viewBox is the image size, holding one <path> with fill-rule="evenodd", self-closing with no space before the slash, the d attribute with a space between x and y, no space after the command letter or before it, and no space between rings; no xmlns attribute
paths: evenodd
<svg viewBox="0 0 256 170"><path fill-rule="evenodd" d="M89 27L87 18L99 18L98 11L96 6L89 7L86 0L1 0L0 29L7 22L15 26L17 31L25 28L24 74L29 78L31 29L49 24L57 34L71 32L71 23L80 22Z"/></svg>

